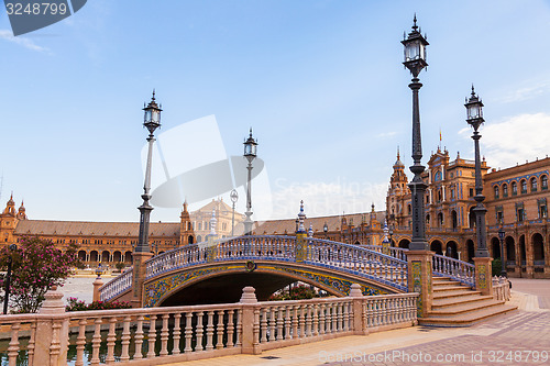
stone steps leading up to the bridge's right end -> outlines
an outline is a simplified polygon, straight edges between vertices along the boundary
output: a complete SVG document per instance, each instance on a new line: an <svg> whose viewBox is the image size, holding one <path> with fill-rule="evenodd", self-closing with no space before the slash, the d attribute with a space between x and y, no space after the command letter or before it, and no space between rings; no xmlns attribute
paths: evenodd
<svg viewBox="0 0 550 366"><path fill-rule="evenodd" d="M420 325L470 326L490 317L514 311L517 307L482 296L481 291L448 277L433 277L431 311L418 319Z"/></svg>

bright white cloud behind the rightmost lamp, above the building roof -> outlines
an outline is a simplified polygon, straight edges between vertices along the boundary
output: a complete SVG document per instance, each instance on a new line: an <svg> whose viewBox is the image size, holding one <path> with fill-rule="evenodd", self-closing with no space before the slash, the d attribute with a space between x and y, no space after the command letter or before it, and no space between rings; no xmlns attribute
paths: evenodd
<svg viewBox="0 0 550 366"><path fill-rule="evenodd" d="M550 115L546 113L519 114L503 122L482 127L481 149L487 164L507 168L516 163L543 158L550 153ZM460 131L471 135L471 129Z"/></svg>

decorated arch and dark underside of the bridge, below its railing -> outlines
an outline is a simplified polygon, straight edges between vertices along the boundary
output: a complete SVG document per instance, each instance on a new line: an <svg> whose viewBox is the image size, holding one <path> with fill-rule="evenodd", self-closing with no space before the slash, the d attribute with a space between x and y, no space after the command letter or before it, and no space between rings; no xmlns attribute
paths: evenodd
<svg viewBox="0 0 550 366"><path fill-rule="evenodd" d="M352 274L336 274L312 265L254 260L255 268L251 270L251 262L193 266L147 280L144 284L145 307L238 302L242 288L246 286L256 289L258 301L265 301L273 292L296 281L312 285L338 297L346 296L354 282L361 285L364 295L402 292L374 280Z"/></svg>

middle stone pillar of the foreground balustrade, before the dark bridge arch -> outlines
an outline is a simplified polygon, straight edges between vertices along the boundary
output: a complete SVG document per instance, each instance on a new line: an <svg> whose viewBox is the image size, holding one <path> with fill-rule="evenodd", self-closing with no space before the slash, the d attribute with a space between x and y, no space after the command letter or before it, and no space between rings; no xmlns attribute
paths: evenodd
<svg viewBox="0 0 550 366"><path fill-rule="evenodd" d="M255 289L248 286L242 289L242 353L258 355L262 353L260 346L260 307Z"/></svg>

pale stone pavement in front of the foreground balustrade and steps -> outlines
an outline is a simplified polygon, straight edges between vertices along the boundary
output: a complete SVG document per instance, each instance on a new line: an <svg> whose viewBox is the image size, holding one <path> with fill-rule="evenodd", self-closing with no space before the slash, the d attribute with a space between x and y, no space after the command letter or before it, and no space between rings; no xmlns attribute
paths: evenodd
<svg viewBox="0 0 550 366"><path fill-rule="evenodd" d="M512 281L519 310L470 328L414 326L172 365L550 365L550 280Z"/></svg>

